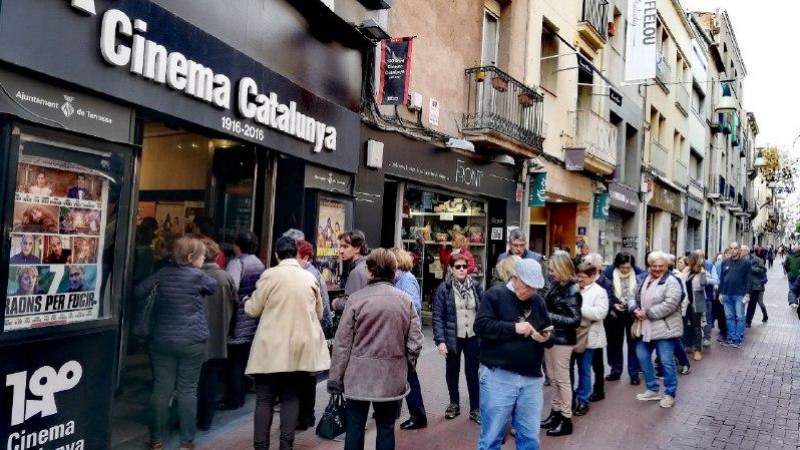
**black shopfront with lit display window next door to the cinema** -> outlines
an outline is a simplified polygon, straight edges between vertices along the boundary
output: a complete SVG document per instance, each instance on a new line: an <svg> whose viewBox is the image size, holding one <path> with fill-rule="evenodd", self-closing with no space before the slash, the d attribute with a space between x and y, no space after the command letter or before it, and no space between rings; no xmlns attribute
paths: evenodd
<svg viewBox="0 0 800 450"><path fill-rule="evenodd" d="M519 226L514 168L367 126L361 136L356 226L373 246L398 246L412 253L423 310L445 276L440 252L451 249L456 234L466 238L475 258L476 280L488 286L497 257L506 250L508 227ZM374 147L370 141L383 148L382 161L369 164L373 167L368 165L374 156L368 154Z"/></svg>

